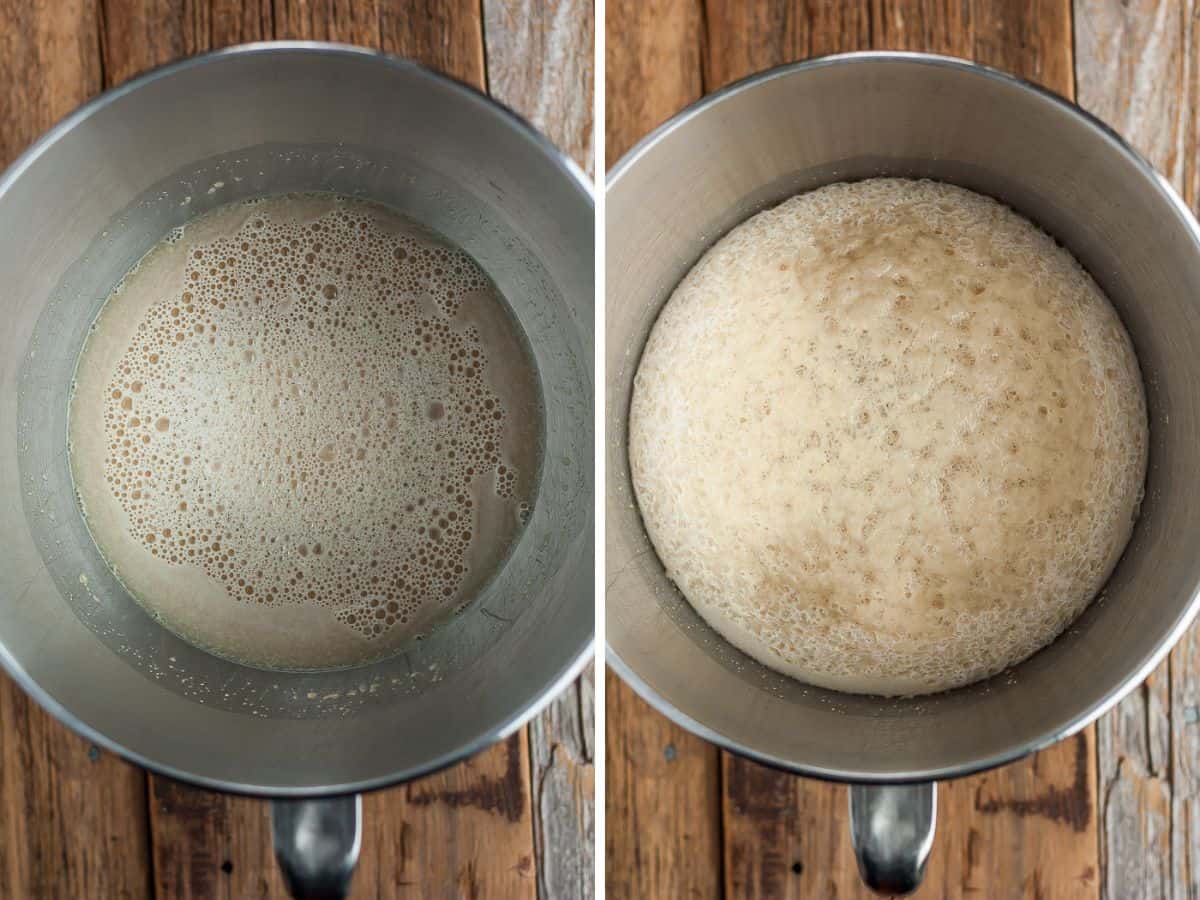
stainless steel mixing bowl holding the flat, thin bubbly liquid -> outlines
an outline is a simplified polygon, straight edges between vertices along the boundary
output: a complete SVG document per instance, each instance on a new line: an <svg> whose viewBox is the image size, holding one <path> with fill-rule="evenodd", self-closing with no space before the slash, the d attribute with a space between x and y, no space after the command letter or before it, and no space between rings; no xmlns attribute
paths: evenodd
<svg viewBox="0 0 1200 900"><path fill-rule="evenodd" d="M74 359L116 281L188 218L287 191L384 203L467 250L528 336L545 401L533 515L482 595L401 655L317 674L217 659L146 616L96 551L66 455ZM234 48L58 125L0 180L0 662L42 706L174 778L318 797L460 760L580 672L594 608L593 203L516 115L367 50ZM344 863L355 811L281 806L281 848L341 834L330 863Z"/></svg>

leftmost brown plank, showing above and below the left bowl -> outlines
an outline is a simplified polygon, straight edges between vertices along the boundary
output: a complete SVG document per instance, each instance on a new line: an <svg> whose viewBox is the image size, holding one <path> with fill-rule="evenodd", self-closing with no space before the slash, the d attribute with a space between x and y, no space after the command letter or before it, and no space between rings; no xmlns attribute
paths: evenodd
<svg viewBox="0 0 1200 900"><path fill-rule="evenodd" d="M0 166L100 90L91 0L0 0ZM0 896L150 895L143 773L0 676Z"/></svg>

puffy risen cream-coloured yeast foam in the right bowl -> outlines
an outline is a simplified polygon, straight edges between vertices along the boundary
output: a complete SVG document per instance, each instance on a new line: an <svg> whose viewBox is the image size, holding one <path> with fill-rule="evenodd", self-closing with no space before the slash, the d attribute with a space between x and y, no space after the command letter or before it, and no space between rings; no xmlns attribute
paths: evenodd
<svg viewBox="0 0 1200 900"><path fill-rule="evenodd" d="M790 199L688 274L635 379L630 462L667 574L821 686L913 695L1049 643L1142 496L1116 312L989 198L876 179Z"/></svg>

